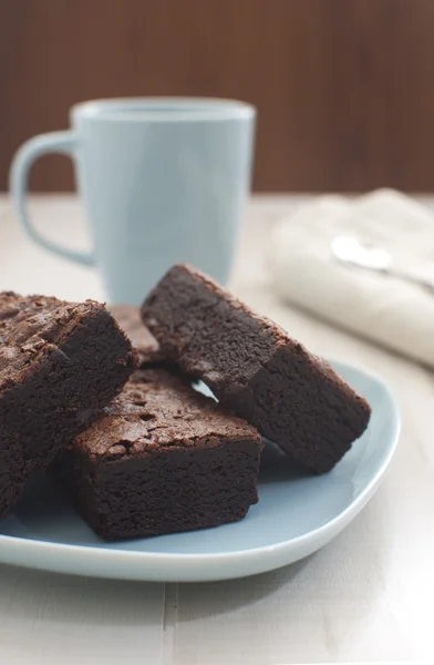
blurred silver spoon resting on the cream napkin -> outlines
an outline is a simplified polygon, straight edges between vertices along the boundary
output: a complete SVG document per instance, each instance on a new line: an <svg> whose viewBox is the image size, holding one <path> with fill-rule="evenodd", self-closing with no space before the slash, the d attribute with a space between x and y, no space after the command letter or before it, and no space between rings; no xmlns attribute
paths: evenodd
<svg viewBox="0 0 434 665"><path fill-rule="evenodd" d="M399 277L405 282L418 284L423 288L434 293L434 280L428 277L416 275L405 269L392 266L392 256L386 249L375 247L368 241L360 241L353 236L340 235L332 239L331 250L334 257L352 266L383 273L392 277Z"/></svg>

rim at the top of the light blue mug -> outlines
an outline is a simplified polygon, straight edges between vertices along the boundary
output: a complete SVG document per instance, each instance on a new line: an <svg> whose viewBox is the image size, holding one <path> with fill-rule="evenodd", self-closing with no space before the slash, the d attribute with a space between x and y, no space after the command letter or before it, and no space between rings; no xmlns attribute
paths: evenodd
<svg viewBox="0 0 434 665"><path fill-rule="evenodd" d="M127 113L141 109L143 115ZM99 122L208 122L251 119L256 115L256 108L248 102L225 98L107 98L74 104L70 115L73 120Z"/></svg>

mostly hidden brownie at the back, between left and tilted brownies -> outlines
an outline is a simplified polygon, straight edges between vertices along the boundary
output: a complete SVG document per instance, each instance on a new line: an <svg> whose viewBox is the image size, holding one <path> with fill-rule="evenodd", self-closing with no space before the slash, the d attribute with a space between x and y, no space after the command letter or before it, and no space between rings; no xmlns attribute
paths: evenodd
<svg viewBox="0 0 434 665"><path fill-rule="evenodd" d="M159 345L143 325L137 307L112 305L110 311L136 348L141 367L157 366L163 362Z"/></svg>

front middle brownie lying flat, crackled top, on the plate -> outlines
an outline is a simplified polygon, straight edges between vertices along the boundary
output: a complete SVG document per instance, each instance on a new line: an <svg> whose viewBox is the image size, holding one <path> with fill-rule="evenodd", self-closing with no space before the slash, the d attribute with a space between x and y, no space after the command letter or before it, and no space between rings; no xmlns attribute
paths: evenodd
<svg viewBox="0 0 434 665"><path fill-rule="evenodd" d="M58 457L54 474L105 540L216 526L256 503L261 441L164 369L138 370Z"/></svg>

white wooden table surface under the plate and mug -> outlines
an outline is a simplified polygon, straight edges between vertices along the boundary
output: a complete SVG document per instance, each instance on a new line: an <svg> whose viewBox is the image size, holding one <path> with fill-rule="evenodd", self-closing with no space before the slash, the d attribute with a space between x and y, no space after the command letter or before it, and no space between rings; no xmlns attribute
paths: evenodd
<svg viewBox="0 0 434 665"><path fill-rule="evenodd" d="M0 566L1 665L434 659L434 377L275 298L264 260L267 229L300 200L252 200L231 286L312 350L361 364L390 382L403 433L384 484L330 545L254 579L145 584ZM85 244L75 197L32 196L30 207L51 237ZM55 258L24 236L6 196L2 289L103 297L93 270Z"/></svg>

